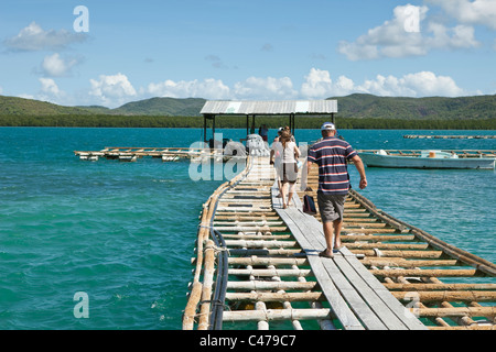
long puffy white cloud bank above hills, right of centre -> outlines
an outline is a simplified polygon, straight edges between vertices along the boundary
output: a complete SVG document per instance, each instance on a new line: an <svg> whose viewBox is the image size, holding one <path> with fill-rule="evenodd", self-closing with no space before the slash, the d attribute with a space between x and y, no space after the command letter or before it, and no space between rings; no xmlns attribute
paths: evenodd
<svg viewBox="0 0 496 352"><path fill-rule="evenodd" d="M347 96L353 92L365 92L377 96L454 97L463 95L463 89L457 87L451 77L436 76L431 72L408 74L401 78L391 75L387 77L377 75L374 79L355 84L346 76L339 76L333 82L328 72L316 68L312 68L310 74L305 76L305 81L301 88L301 96L310 99Z"/></svg>

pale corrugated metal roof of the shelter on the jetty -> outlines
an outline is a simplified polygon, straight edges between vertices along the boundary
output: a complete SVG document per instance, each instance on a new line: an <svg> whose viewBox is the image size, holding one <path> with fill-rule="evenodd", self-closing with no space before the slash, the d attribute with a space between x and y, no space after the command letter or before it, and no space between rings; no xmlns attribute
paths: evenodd
<svg viewBox="0 0 496 352"><path fill-rule="evenodd" d="M218 101L205 102L202 114L336 113L337 100Z"/></svg>

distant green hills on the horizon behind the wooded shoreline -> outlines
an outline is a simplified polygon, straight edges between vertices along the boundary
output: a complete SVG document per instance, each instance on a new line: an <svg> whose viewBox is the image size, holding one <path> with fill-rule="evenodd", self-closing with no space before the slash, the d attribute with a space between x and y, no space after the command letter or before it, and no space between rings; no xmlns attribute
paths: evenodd
<svg viewBox="0 0 496 352"><path fill-rule="evenodd" d="M484 120L496 118L496 95L459 98L377 97L354 94L335 97L338 117L403 120ZM205 103L201 98L151 98L128 102L116 109L99 106L64 107L32 99L0 96L0 116L112 114L197 117Z"/></svg>

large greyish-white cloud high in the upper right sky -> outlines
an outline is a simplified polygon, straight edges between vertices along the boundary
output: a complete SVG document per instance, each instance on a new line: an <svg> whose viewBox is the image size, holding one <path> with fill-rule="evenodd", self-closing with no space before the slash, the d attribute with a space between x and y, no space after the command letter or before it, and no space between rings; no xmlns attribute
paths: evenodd
<svg viewBox="0 0 496 352"><path fill-rule="evenodd" d="M474 29L467 25L446 28L427 20L428 7L398 6L393 18L376 26L355 42L342 41L338 52L351 61L380 57L421 56L431 50L476 47Z"/></svg>

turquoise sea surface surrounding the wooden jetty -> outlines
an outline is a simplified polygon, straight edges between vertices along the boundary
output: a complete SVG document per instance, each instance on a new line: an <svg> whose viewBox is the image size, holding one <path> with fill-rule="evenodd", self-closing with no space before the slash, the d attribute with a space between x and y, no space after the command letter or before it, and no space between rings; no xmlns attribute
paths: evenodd
<svg viewBox="0 0 496 352"><path fill-rule="evenodd" d="M339 132L358 150L496 150L496 140L403 139L496 131ZM186 161L85 162L74 151L202 138L201 129L0 128L0 329L181 329L198 216L224 180L192 180ZM378 208L496 262L494 170L366 172L360 193ZM353 166L351 177L358 188Z"/></svg>

